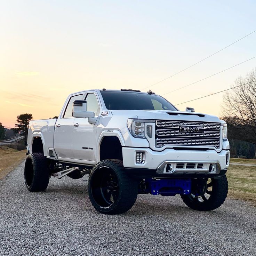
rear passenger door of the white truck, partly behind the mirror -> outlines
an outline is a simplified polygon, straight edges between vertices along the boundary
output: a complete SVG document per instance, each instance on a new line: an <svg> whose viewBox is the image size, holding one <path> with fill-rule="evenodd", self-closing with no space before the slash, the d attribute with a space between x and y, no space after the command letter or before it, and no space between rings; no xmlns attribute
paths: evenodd
<svg viewBox="0 0 256 256"><path fill-rule="evenodd" d="M72 151L72 134L75 118L72 117L73 102L83 99L84 94L71 96L65 106L62 116L58 117L54 129L54 149L59 160L74 158Z"/></svg>

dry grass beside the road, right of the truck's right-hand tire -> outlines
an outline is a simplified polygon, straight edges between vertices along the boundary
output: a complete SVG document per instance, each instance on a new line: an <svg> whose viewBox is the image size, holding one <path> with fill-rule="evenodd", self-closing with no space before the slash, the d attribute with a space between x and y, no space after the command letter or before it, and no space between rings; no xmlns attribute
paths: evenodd
<svg viewBox="0 0 256 256"><path fill-rule="evenodd" d="M256 167L230 165L227 179L230 197L249 201L256 206Z"/></svg>

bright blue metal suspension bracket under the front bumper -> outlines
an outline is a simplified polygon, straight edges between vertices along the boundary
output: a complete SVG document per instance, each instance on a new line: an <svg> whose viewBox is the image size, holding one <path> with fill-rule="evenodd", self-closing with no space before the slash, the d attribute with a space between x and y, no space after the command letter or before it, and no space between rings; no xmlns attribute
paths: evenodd
<svg viewBox="0 0 256 256"><path fill-rule="evenodd" d="M170 196L191 193L191 179L145 179L152 195Z"/></svg>

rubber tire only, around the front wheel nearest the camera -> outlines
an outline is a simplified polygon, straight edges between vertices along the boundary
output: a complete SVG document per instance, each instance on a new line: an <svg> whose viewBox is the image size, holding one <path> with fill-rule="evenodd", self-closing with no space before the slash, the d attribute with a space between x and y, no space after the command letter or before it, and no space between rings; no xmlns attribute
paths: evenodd
<svg viewBox="0 0 256 256"><path fill-rule="evenodd" d="M103 177L103 175L105 175L108 171L113 171L113 175L116 175L116 180L118 183L116 200L114 200L112 205L104 205L104 203L98 203L99 197L103 194L103 190L100 189L101 195L99 195L98 198L96 198L95 192L96 189L98 189L95 185L98 182L98 179ZM91 171L88 180L88 193L91 204L100 213L121 214L125 213L131 207L133 207L138 194L138 181L129 177L125 173L121 160L107 159L97 163L97 165Z"/></svg>

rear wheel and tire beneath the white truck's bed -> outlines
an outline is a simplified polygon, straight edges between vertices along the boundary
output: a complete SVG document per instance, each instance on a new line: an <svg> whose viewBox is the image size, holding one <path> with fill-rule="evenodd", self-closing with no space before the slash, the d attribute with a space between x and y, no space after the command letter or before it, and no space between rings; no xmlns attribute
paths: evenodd
<svg viewBox="0 0 256 256"><path fill-rule="evenodd" d="M45 191L47 189L50 170L43 153L31 153L27 156L24 178L29 191Z"/></svg>

